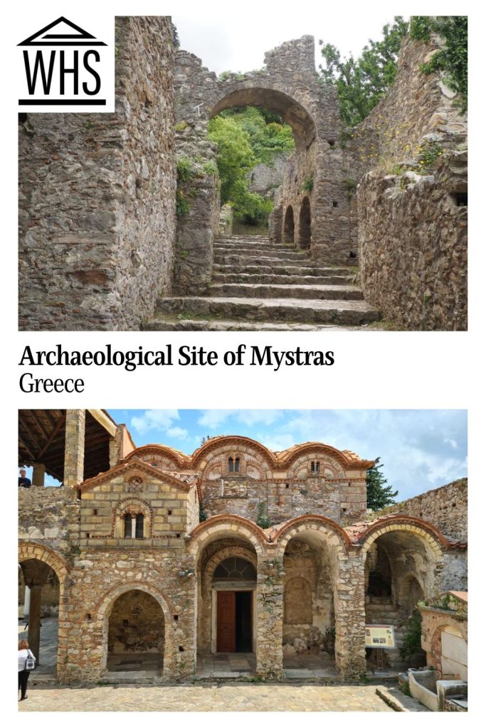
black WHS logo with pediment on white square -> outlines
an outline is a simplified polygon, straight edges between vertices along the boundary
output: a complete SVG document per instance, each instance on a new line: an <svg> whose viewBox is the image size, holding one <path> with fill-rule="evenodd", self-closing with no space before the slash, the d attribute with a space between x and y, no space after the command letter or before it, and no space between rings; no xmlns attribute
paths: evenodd
<svg viewBox="0 0 486 728"><path fill-rule="evenodd" d="M114 111L113 44L61 16L17 47L19 110Z"/></svg>

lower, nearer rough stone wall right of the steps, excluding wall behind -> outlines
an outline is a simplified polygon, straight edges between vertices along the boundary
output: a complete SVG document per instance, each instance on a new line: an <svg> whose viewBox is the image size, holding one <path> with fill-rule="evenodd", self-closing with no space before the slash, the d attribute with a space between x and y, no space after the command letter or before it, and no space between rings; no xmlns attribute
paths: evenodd
<svg viewBox="0 0 486 728"><path fill-rule="evenodd" d="M467 155L428 175L372 172L358 189L361 286L383 316L411 330L467 328Z"/></svg>

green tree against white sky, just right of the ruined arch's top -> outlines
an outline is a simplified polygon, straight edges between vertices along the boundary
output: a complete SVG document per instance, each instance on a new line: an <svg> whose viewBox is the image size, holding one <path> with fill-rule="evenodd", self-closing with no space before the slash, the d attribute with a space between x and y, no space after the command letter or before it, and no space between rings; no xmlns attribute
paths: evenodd
<svg viewBox="0 0 486 728"><path fill-rule="evenodd" d="M383 38L368 41L358 58L341 58L340 51L328 43L321 54L321 76L326 84L337 87L342 121L355 126L368 116L393 84L396 76L397 57L401 40L406 35L408 23L397 15L393 24L383 26ZM323 41L319 41L323 44Z"/></svg>

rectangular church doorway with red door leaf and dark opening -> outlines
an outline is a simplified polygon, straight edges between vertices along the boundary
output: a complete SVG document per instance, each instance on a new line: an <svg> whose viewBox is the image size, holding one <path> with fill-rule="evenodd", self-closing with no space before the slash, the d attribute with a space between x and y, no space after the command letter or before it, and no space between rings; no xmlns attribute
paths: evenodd
<svg viewBox="0 0 486 728"><path fill-rule="evenodd" d="M251 652L252 592L218 591L217 652Z"/></svg>

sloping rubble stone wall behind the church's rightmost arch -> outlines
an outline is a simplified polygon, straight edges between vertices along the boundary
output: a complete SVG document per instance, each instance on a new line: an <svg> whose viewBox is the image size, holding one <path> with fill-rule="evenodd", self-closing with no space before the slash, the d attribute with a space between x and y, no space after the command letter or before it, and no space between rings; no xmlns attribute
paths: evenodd
<svg viewBox="0 0 486 728"><path fill-rule="evenodd" d="M468 536L467 486L467 478L460 478L442 488L434 488L433 491L427 491L414 498L383 508L377 515L393 515L394 513L413 515L431 523L447 538L466 541Z"/></svg>

